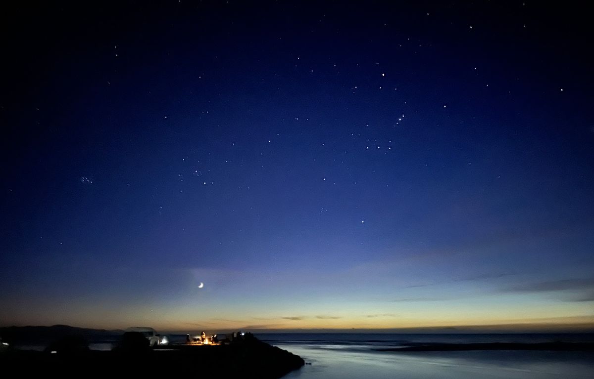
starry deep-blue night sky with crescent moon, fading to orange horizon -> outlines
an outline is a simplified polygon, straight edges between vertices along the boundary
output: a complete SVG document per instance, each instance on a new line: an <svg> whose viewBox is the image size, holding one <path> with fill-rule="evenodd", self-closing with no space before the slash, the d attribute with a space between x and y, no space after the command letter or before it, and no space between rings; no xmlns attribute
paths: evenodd
<svg viewBox="0 0 594 379"><path fill-rule="evenodd" d="M592 23L543 3L5 5L0 326L591 330Z"/></svg>

